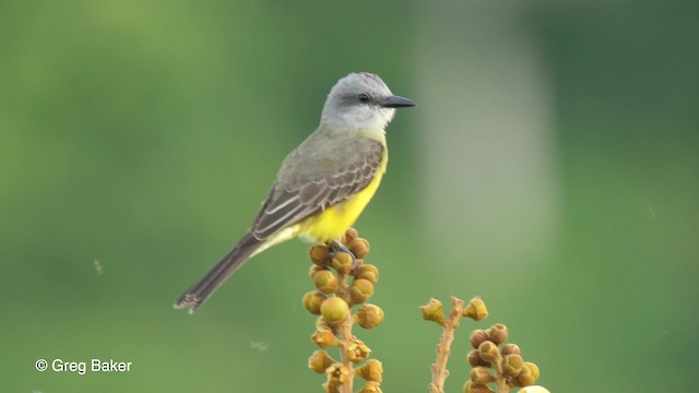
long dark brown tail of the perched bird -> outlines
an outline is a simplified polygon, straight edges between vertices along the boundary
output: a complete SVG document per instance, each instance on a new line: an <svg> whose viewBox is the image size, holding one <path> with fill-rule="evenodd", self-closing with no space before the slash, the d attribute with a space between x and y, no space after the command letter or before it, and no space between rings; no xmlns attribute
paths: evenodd
<svg viewBox="0 0 699 393"><path fill-rule="evenodd" d="M175 308L189 307L189 313L194 313L263 243L264 241L256 239L250 233L246 234L221 262L177 299Z"/></svg>

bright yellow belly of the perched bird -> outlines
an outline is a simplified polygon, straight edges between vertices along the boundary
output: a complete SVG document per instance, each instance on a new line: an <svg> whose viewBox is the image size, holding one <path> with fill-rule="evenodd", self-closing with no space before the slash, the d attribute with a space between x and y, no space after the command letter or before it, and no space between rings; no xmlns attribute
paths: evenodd
<svg viewBox="0 0 699 393"><path fill-rule="evenodd" d="M298 236L311 242L328 242L342 236L371 201L384 171L386 158L374 179L362 191L300 222Z"/></svg>

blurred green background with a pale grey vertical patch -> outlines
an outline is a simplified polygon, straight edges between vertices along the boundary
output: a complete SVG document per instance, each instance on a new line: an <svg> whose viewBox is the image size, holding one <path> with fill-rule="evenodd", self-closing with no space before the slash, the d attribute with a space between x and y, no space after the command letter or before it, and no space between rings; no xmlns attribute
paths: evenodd
<svg viewBox="0 0 699 393"><path fill-rule="evenodd" d="M2 392L320 392L307 246L174 300L242 235L352 71L418 107L357 223L386 392L430 297L481 295L552 392L696 391L696 1L2 1ZM37 359L132 361L38 372Z"/></svg>

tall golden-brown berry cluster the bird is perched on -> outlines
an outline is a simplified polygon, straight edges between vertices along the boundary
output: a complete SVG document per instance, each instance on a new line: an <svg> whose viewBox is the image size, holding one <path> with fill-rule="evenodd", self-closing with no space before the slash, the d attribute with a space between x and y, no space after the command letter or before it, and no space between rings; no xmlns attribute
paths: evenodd
<svg viewBox="0 0 699 393"><path fill-rule="evenodd" d="M368 252L369 242L353 228L340 239L339 247L317 245L308 252L313 262L309 275L317 290L304 295L304 308L319 315L311 341L321 348L311 355L308 367L327 374L325 392L352 392L355 377L366 380L360 393L381 392L381 362L368 359L371 349L352 334L355 323L372 329L383 321L383 310L367 303L379 278L379 270L364 263ZM329 347L337 347L340 361L325 352Z"/></svg>

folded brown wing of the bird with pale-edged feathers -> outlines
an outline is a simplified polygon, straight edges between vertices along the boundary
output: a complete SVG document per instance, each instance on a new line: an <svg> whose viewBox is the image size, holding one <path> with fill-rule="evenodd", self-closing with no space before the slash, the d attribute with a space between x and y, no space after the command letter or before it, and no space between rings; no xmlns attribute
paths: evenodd
<svg viewBox="0 0 699 393"><path fill-rule="evenodd" d="M266 239L275 231L342 202L367 187L381 164L383 146L378 141L362 139L344 145L341 152L335 153L344 153L347 157L334 164L333 159L328 159L328 155L313 157L310 154L299 159L298 165L282 167L280 178L283 179L272 186L250 229L257 239Z"/></svg>

